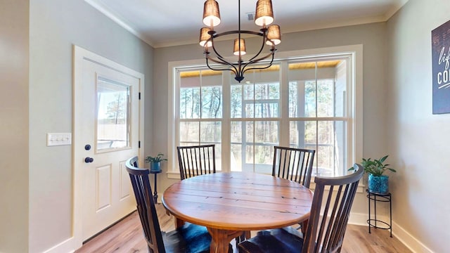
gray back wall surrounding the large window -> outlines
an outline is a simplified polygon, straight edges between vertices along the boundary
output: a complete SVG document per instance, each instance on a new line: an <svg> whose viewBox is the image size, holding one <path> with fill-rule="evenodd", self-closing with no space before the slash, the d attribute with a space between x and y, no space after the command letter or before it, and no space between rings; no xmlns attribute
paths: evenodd
<svg viewBox="0 0 450 253"><path fill-rule="evenodd" d="M356 25L326 30L314 30L309 32L297 32L282 35L282 42L278 46L278 52L295 51L308 48L324 48L332 46L347 46L363 44L364 46L364 156L380 157L387 153L385 129L385 22L370 25ZM252 40L246 39L246 44ZM253 43L257 42L255 40ZM155 94L152 105L154 117L158 121L153 122L155 130L153 138L153 150L167 152L167 105L168 101L168 63L170 61L193 60L203 58L203 51L198 44L188 46L174 46L155 49L155 75L153 87ZM158 109L157 109L158 108ZM167 164L163 164L167 166ZM168 169L168 168L165 168ZM158 183L158 192L174 183L174 179L164 176ZM355 203L353 212L367 212L367 202L364 194L360 194Z"/></svg>

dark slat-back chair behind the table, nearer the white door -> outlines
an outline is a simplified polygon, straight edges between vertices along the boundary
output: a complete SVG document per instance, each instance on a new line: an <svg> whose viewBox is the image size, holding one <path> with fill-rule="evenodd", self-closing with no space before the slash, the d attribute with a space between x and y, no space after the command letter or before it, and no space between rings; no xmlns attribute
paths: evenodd
<svg viewBox="0 0 450 253"><path fill-rule="evenodd" d="M181 180L193 176L216 173L215 145L176 147Z"/></svg>

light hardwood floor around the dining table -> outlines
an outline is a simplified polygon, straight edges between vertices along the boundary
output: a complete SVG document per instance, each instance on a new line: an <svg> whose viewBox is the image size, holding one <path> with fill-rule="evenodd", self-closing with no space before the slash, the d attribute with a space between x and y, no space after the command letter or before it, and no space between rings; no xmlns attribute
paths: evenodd
<svg viewBox="0 0 450 253"><path fill-rule="evenodd" d="M162 231L174 229L174 218L168 216L161 204L157 205L158 217ZM395 228L394 228L395 229ZM348 225L342 246L342 253L409 253L406 246L397 238L390 238L389 231L372 229L368 233L367 226ZM146 240L143 237L139 215L134 212L122 221L111 226L103 233L84 243L75 253L105 252L147 252Z"/></svg>

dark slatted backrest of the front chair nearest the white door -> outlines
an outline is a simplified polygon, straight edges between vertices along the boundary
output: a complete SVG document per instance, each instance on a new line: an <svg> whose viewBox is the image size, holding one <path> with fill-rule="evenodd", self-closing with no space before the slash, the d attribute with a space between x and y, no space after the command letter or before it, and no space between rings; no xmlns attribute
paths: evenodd
<svg viewBox="0 0 450 253"><path fill-rule="evenodd" d="M150 187L150 181L148 180L150 171L137 167L137 164L138 157L132 157L125 162L125 167L127 167L131 185L133 186L148 251L152 253L165 253L158 214L156 213L153 193Z"/></svg>

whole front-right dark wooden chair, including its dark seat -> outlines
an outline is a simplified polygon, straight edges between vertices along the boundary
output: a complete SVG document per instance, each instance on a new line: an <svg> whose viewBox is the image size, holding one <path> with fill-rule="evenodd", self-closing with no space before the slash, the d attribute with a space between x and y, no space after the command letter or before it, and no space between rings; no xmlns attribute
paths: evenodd
<svg viewBox="0 0 450 253"><path fill-rule="evenodd" d="M340 252L350 209L363 174L361 165L354 164L354 173L347 176L316 176L304 236L292 227L259 231L238 245L239 252Z"/></svg>

